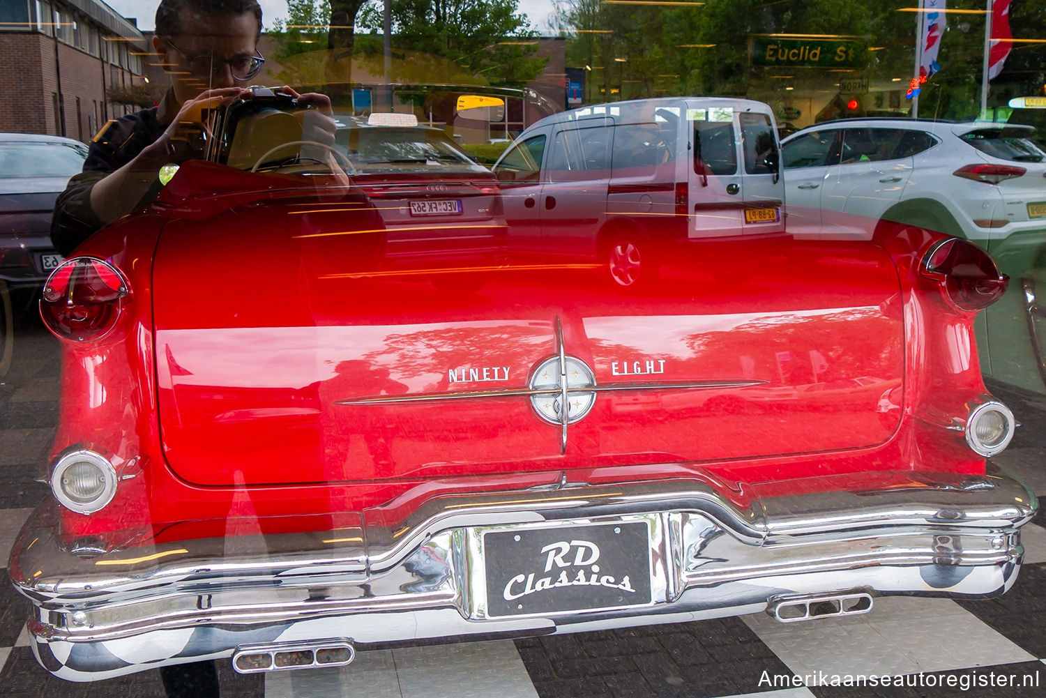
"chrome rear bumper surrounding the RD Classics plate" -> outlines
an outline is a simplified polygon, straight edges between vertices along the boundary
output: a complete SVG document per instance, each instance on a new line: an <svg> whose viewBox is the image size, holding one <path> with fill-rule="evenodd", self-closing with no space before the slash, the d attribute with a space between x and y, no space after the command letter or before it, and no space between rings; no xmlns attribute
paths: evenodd
<svg viewBox="0 0 1046 698"><path fill-rule="evenodd" d="M228 658L258 644L353 637L364 650L736 615L797 595L976 598L1013 585L1019 528L1038 509L1025 486L995 472L876 475L867 490L841 489L861 481L854 475L794 481L791 492L820 491L789 496L773 496L779 482L727 486L698 472L408 492L360 512L358 526L162 544L128 532L121 549L86 559L65 551L48 502L23 528L9 571L32 602L41 663L70 680ZM484 534L635 521L650 532L651 603L491 617Z"/></svg>

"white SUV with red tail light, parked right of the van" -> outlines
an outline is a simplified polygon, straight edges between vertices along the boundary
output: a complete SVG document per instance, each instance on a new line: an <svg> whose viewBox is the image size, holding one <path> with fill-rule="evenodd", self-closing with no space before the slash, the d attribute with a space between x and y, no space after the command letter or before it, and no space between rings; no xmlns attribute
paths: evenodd
<svg viewBox="0 0 1046 698"><path fill-rule="evenodd" d="M870 118L781 142L788 230L866 239L897 221L991 241L1046 227L1046 152L1030 127Z"/></svg>

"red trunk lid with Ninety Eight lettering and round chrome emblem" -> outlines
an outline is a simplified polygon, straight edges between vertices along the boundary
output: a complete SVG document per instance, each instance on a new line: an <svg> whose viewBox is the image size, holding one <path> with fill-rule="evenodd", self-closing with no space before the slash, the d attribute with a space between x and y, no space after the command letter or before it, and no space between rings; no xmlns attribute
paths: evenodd
<svg viewBox="0 0 1046 698"><path fill-rule="evenodd" d="M591 264L478 266L450 239L431 271L401 273L382 227L358 195L167 225L155 340L179 476L281 485L750 459L868 447L897 427L899 283L871 244L746 243L714 266L676 255L656 286L627 294ZM726 284L723 271L751 277ZM578 418L565 445L561 352Z"/></svg>

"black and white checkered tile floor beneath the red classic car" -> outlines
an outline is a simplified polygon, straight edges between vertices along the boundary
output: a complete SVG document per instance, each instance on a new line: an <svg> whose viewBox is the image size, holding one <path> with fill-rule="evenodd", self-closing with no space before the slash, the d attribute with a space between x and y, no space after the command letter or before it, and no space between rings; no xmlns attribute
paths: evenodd
<svg viewBox="0 0 1046 698"><path fill-rule="evenodd" d="M17 329L0 377L0 559L45 496L33 482L58 419L58 347ZM992 386L1022 423L997 463L1046 493L1046 398ZM1024 528L1017 586L994 601L891 598L871 613L809 624L766 615L368 652L342 669L241 676L219 666L223 698L915 698L1046 697L1046 517ZM0 697L164 696L158 672L68 683L37 666L26 603L0 569ZM904 685L832 685L901 676ZM892 679L897 680L897 679ZM963 685L968 690L963 690ZM971 688L972 686L972 688ZM190 691L188 695L195 695ZM199 695L199 694L196 694ZM201 696L203 698L203 696Z"/></svg>

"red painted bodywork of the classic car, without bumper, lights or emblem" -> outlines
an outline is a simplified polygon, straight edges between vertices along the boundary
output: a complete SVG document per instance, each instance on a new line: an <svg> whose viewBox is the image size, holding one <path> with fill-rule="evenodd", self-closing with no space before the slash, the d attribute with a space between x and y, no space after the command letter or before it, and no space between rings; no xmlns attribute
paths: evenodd
<svg viewBox="0 0 1046 698"><path fill-rule="evenodd" d="M453 237L428 267L397 268L384 228L380 198L357 187L190 163L154 206L83 245L131 293L110 334L64 343L52 455L90 444L134 477L100 512L64 512L66 533L235 534L262 514L274 533L316 530L315 517L337 527L423 493L548 485L563 471L696 476L724 494L984 472L947 429L986 390L975 313L920 274L937 233L784 237L720 244L714 257L691 245L665 250L658 283L629 293L588 263L477 262ZM721 282L731 267L747 280ZM526 398L336 404L525 387L553 355L556 319L597 384L759 383L600 393L565 453Z"/></svg>

